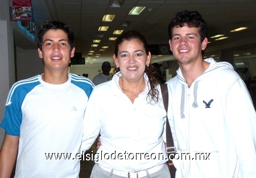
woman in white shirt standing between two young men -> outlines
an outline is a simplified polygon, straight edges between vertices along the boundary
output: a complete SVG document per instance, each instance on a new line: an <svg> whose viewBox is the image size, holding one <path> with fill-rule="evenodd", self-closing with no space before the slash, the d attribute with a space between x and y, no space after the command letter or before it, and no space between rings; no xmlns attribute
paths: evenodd
<svg viewBox="0 0 256 178"><path fill-rule="evenodd" d="M137 31L118 37L116 73L94 88L84 116L81 152L100 133L90 177L170 177L164 147L162 94L146 39Z"/></svg>

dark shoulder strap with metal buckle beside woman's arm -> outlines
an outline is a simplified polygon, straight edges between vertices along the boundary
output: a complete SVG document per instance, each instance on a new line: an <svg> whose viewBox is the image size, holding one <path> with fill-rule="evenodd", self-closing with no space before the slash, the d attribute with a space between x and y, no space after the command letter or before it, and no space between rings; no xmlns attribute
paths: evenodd
<svg viewBox="0 0 256 178"><path fill-rule="evenodd" d="M166 109L166 144L167 144L166 150L167 150L168 158L170 158L169 154L175 153L176 149L174 147L174 138L172 138L171 127L170 127L168 117L167 117L168 100L169 100L167 84L160 84L160 88L161 88L161 91L162 91L164 109ZM168 163L172 164L172 160L169 159Z"/></svg>

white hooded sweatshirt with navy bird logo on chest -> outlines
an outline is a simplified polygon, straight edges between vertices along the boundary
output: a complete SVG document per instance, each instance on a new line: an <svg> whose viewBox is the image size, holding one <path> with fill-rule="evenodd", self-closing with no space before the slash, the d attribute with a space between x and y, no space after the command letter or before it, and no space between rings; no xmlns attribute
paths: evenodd
<svg viewBox="0 0 256 178"><path fill-rule="evenodd" d="M255 178L256 114L250 94L228 62L205 61L209 68L190 87L180 69L167 82L176 177Z"/></svg>

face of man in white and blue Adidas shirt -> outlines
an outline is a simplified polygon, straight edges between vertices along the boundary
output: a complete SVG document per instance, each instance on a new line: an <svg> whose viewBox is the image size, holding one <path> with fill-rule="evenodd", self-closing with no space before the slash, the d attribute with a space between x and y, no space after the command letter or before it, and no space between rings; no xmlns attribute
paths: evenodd
<svg viewBox="0 0 256 178"><path fill-rule="evenodd" d="M70 49L68 36L61 29L49 30L43 36L42 51L38 49L39 57L44 61L44 72L66 71L70 58L74 56L75 48Z"/></svg>

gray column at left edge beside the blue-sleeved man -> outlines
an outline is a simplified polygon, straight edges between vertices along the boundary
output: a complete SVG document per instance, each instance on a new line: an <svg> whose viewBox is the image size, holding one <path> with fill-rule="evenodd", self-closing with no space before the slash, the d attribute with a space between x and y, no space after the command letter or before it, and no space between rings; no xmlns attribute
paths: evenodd
<svg viewBox="0 0 256 178"><path fill-rule="evenodd" d="M15 82L13 22L10 22L9 2L0 0L0 122L5 113L8 92ZM5 130L0 128L0 145L4 135Z"/></svg>

